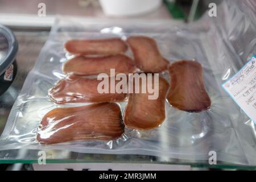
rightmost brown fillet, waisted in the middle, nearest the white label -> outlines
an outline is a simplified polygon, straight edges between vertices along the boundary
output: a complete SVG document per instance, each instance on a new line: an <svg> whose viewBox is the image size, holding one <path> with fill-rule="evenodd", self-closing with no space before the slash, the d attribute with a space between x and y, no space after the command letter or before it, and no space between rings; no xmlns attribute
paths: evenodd
<svg viewBox="0 0 256 182"><path fill-rule="evenodd" d="M204 87L203 68L196 61L183 60L170 65L171 88L168 102L177 109L199 112L209 109L210 98Z"/></svg>

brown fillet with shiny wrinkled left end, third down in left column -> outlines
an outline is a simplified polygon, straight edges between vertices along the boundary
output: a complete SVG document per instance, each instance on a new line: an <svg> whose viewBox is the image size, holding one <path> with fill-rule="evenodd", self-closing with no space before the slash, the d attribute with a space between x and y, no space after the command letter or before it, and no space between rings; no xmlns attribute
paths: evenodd
<svg viewBox="0 0 256 182"><path fill-rule="evenodd" d="M48 92L51 100L57 104L82 103L82 102L117 102L125 100L126 93L99 93L97 90L101 80L97 78L83 78L69 75L51 88ZM118 81L115 81L116 85Z"/></svg>

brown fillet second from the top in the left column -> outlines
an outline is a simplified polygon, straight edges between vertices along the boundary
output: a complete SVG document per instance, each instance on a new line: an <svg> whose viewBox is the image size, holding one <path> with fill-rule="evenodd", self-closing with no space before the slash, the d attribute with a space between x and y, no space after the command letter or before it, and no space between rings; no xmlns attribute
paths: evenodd
<svg viewBox="0 0 256 182"><path fill-rule="evenodd" d="M76 56L68 60L63 65L63 73L73 73L75 75L98 75L106 73L110 75L110 69L115 69L117 73L134 73L135 65L133 60L126 55L112 55L104 57Z"/></svg>

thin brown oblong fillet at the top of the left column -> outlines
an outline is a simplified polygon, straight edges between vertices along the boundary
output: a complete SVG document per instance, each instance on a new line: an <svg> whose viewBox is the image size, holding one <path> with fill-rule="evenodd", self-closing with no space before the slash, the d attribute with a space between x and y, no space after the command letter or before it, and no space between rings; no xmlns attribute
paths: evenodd
<svg viewBox="0 0 256 182"><path fill-rule="evenodd" d="M64 45L65 49L75 55L115 55L127 51L126 43L119 38L82 40L72 39Z"/></svg>

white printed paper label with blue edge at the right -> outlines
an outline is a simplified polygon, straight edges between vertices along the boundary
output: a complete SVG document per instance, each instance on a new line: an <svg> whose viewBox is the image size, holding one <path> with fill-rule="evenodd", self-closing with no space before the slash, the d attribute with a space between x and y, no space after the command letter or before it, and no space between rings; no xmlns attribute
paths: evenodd
<svg viewBox="0 0 256 182"><path fill-rule="evenodd" d="M222 84L229 96L256 122L256 56Z"/></svg>

